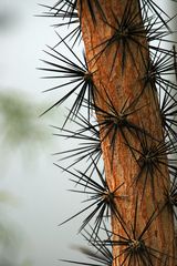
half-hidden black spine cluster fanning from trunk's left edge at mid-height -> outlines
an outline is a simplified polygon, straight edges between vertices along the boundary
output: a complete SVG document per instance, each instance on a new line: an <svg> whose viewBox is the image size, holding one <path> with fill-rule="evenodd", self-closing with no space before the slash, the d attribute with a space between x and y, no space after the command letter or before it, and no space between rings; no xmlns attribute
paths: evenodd
<svg viewBox="0 0 177 266"><path fill-rule="evenodd" d="M94 164L98 164L102 157L102 149L101 149L101 140L100 140L100 132L97 130L95 121L88 121L84 115L81 113L77 113L76 120L72 120L74 124L79 127L79 130L66 130L59 126L54 126L59 131L59 133L55 133L54 135L64 137L66 141L70 139L74 139L80 141L80 144L77 147L65 150L62 152L56 152L54 155L63 155L60 161L63 160L70 160L74 157L74 162L70 163L66 168L72 167L73 165L84 162L91 162L88 163L85 174L88 170L93 168L94 171ZM92 175L92 172L90 176Z"/></svg>

